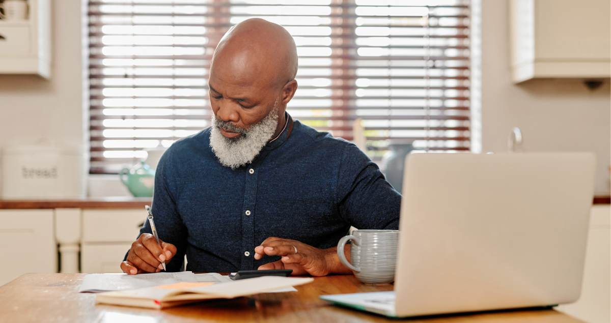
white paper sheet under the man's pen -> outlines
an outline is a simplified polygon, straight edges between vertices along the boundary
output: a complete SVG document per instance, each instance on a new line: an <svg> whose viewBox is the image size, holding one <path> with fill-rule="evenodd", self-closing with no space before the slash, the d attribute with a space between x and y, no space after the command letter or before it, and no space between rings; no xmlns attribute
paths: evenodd
<svg viewBox="0 0 611 323"><path fill-rule="evenodd" d="M197 283L192 272L157 272L153 274L89 274L79 292L123 291L181 282Z"/></svg>

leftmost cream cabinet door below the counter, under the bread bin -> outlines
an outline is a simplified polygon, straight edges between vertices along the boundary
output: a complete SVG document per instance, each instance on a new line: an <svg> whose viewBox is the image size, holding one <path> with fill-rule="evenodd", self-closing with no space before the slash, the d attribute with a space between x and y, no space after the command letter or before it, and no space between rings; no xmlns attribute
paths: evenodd
<svg viewBox="0 0 611 323"><path fill-rule="evenodd" d="M57 272L53 210L0 210L0 245L4 259L0 285L26 272Z"/></svg>

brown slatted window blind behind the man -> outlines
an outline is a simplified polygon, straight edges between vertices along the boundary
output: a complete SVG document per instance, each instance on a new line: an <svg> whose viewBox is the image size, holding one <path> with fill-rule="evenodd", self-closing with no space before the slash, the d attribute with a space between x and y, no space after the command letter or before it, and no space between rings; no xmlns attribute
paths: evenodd
<svg viewBox="0 0 611 323"><path fill-rule="evenodd" d="M208 68L233 24L259 17L298 46L296 119L336 137L469 150L467 0L89 2L91 172L116 173L209 125Z"/></svg>

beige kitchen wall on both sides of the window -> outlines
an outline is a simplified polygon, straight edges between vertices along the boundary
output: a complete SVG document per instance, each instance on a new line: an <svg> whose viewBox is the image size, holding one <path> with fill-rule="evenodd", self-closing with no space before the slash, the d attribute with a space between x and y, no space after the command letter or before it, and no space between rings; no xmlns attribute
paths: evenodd
<svg viewBox="0 0 611 323"><path fill-rule="evenodd" d="M478 2L478 1L474 1ZM609 194L610 94L607 80L589 90L580 81L510 78L508 0L481 1L481 150L506 151L510 129L524 134L526 151L594 151L596 193ZM0 147L46 137L89 144L87 79L82 65L79 1L52 1L53 76L0 74Z"/></svg>

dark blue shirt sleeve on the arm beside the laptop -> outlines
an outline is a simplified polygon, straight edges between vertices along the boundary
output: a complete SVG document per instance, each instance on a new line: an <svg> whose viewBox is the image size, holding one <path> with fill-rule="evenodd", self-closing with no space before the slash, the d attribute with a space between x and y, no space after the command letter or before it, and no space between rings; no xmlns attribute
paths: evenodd
<svg viewBox="0 0 611 323"><path fill-rule="evenodd" d="M398 230L401 194L353 143L343 151L337 192L340 216L353 227Z"/></svg>

